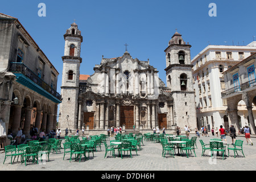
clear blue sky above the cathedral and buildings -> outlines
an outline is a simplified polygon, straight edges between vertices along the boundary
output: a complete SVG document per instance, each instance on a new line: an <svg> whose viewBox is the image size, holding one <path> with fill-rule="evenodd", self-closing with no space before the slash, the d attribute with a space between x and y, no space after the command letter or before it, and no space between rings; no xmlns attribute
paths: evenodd
<svg viewBox="0 0 256 182"><path fill-rule="evenodd" d="M46 4L46 17L38 16L39 3ZM216 17L208 15L210 3L217 5ZM1 0L0 12L18 18L53 63L60 73L60 93L63 35L73 19L84 38L81 74L92 75L102 55L122 56L127 43L131 56L142 61L150 59L166 82L164 49L175 28L191 44L191 58L209 43L246 45L256 35L255 5L254 0Z"/></svg>

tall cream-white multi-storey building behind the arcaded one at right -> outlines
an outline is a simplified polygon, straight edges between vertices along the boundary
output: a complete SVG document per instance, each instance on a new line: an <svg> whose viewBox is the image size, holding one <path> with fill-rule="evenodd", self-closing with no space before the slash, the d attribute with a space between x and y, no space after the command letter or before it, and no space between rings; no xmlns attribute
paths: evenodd
<svg viewBox="0 0 256 182"><path fill-rule="evenodd" d="M226 89L224 73L246 57L256 52L255 42L247 46L216 46L209 45L196 55L193 65L193 85L197 107L197 125L229 129L230 118L226 98L221 98L221 92ZM247 120L247 109L244 102L239 104L238 115L241 125Z"/></svg>

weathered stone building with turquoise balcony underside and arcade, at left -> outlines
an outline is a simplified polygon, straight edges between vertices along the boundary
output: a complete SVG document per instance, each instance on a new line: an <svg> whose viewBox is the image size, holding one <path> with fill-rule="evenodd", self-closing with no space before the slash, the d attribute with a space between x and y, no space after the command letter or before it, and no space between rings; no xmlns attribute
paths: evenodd
<svg viewBox="0 0 256 182"><path fill-rule="evenodd" d="M0 13L0 119L14 135L56 129L59 73L17 18Z"/></svg>

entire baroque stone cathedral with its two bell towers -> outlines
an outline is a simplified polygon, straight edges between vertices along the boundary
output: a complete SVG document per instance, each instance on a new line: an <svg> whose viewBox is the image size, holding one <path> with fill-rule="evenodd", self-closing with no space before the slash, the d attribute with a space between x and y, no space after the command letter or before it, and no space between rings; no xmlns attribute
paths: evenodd
<svg viewBox="0 0 256 182"><path fill-rule="evenodd" d="M106 131L111 126L146 133L163 127L170 133L177 126L196 127L195 93L190 63L190 45L175 33L166 48L167 86L158 70L131 57L129 52L95 65L93 75L80 75L81 31L77 24L64 35L65 55L59 127L86 134Z"/></svg>

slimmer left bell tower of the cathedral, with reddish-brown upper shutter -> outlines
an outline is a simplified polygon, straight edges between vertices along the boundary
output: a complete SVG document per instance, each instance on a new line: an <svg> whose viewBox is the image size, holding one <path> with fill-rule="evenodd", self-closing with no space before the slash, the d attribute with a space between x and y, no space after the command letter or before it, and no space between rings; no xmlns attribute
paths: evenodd
<svg viewBox="0 0 256 182"><path fill-rule="evenodd" d="M61 83L62 103L60 104L61 117L59 128L69 132L77 129L77 108L79 96L80 57L82 36L76 23L72 23L64 34L65 49L63 60L63 73Z"/></svg>

